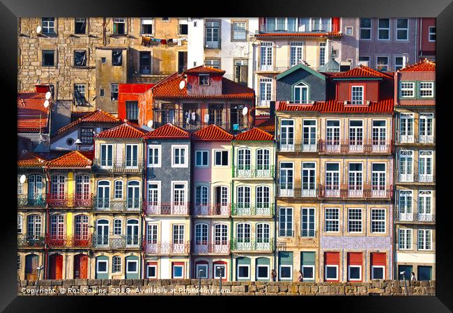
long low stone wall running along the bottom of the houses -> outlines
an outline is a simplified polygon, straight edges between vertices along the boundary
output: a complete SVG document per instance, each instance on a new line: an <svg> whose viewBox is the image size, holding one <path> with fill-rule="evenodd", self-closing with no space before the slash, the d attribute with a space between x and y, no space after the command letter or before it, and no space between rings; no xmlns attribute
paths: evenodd
<svg viewBox="0 0 453 313"><path fill-rule="evenodd" d="M34 296L406 296L404 281L222 282L219 280L31 280L17 283L17 294ZM435 281L407 282L409 296L435 296Z"/></svg>

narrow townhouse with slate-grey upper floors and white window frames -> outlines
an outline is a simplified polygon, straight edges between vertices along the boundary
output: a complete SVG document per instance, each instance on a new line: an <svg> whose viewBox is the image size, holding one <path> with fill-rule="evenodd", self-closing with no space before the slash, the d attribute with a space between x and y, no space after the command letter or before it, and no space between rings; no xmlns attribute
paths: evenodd
<svg viewBox="0 0 453 313"><path fill-rule="evenodd" d="M144 136L144 278L191 278L189 132L167 124Z"/></svg>

